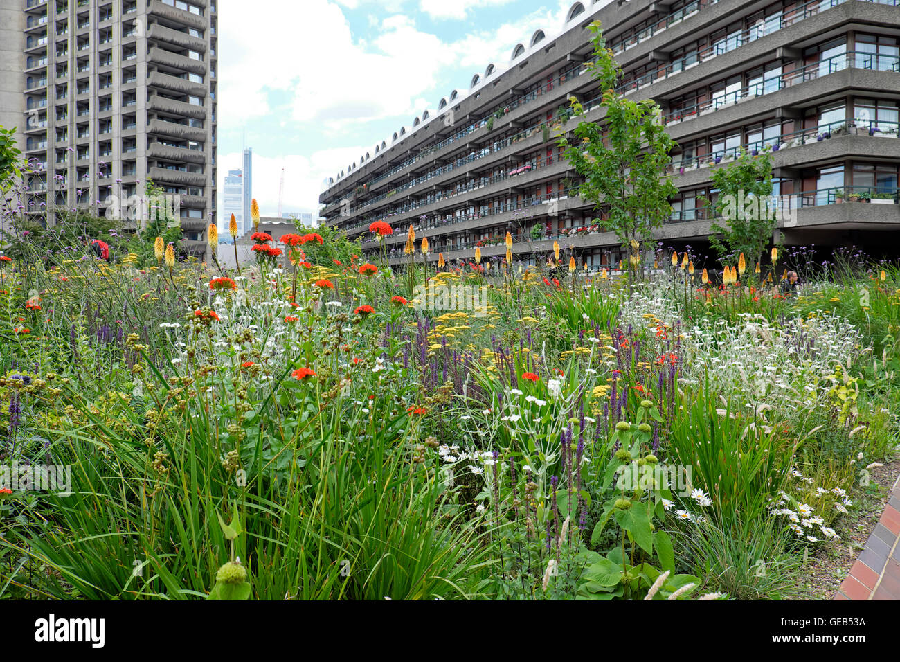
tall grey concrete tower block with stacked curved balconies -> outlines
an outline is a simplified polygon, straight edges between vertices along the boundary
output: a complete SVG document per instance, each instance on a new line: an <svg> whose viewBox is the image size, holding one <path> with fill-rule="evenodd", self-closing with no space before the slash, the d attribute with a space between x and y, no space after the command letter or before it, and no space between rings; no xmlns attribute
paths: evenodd
<svg viewBox="0 0 900 662"><path fill-rule="evenodd" d="M4 0L0 123L35 213L140 218L152 179L202 254L216 218L216 0ZM18 79L18 80L16 80ZM151 212L152 213L152 212ZM126 215L127 214L127 215Z"/></svg>

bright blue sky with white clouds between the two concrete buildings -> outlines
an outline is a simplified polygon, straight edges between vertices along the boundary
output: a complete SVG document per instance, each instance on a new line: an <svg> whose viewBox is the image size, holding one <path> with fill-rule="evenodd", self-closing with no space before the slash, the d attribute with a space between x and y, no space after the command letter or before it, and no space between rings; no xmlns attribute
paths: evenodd
<svg viewBox="0 0 900 662"><path fill-rule="evenodd" d="M283 210L318 210L323 178L488 64L505 68L537 29L560 32L574 2L220 0L220 184L246 141L263 215L282 168Z"/></svg>

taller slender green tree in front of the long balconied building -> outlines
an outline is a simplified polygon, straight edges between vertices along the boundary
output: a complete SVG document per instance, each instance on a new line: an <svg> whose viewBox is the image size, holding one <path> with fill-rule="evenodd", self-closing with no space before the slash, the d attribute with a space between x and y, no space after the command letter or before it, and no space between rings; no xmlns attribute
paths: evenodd
<svg viewBox="0 0 900 662"><path fill-rule="evenodd" d="M608 209L608 219L599 220L604 230L616 232L624 247L637 253L639 241L650 240L653 229L669 218L669 197L678 193L665 175L675 141L662 126L660 107L653 100L635 102L616 94L622 69L606 48L600 22L589 25L594 33L596 60L588 65L591 75L605 90L607 113L603 125L580 122L575 140L564 135L559 144L565 158L584 178L579 194ZM578 100L570 99L575 117L584 117Z"/></svg>

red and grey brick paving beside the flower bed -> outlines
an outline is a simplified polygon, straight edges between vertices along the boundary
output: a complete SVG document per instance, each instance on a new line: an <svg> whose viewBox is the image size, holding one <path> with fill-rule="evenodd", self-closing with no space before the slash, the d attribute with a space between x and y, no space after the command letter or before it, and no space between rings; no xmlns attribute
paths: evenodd
<svg viewBox="0 0 900 662"><path fill-rule="evenodd" d="M900 600L900 476L835 600Z"/></svg>

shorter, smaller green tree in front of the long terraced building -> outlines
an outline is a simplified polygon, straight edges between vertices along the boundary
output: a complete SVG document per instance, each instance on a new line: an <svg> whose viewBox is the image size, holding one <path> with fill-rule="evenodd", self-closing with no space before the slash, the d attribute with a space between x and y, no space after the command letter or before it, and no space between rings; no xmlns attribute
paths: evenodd
<svg viewBox="0 0 900 662"><path fill-rule="evenodd" d="M756 264L769 245L777 222L775 210L770 205L770 148L757 154L742 149L738 159L713 170L711 178L718 198L716 218L710 225L710 245L723 264L740 253L750 265ZM702 200L711 206L707 198ZM725 225L720 224L719 219L725 220Z"/></svg>

